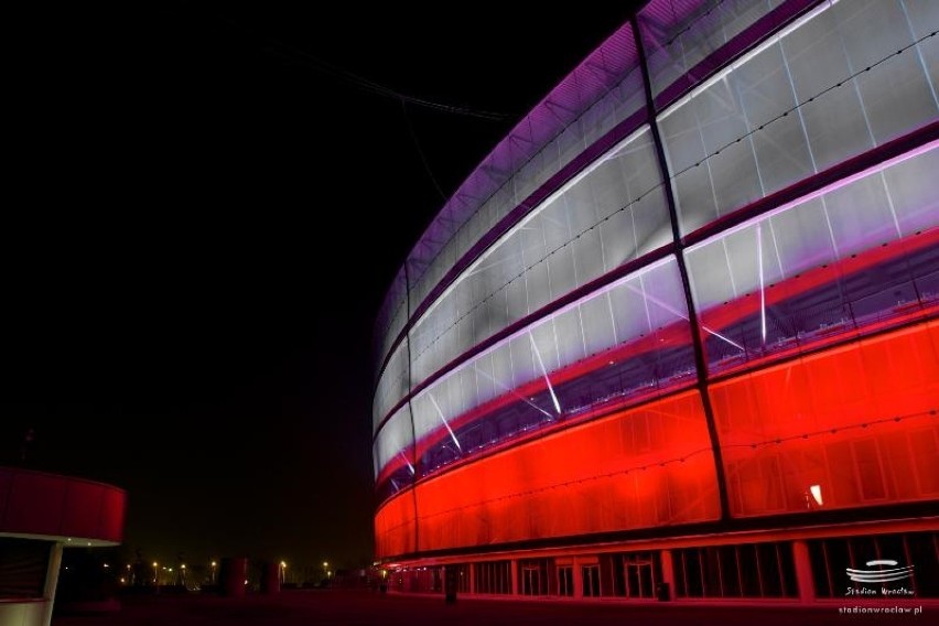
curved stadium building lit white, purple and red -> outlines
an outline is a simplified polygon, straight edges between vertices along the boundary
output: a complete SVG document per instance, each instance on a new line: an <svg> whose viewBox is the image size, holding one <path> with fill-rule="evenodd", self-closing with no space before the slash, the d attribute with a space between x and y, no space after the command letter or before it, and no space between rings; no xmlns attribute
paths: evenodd
<svg viewBox="0 0 939 626"><path fill-rule="evenodd" d="M391 589L939 596L937 28L651 0L496 145L379 314Z"/></svg>

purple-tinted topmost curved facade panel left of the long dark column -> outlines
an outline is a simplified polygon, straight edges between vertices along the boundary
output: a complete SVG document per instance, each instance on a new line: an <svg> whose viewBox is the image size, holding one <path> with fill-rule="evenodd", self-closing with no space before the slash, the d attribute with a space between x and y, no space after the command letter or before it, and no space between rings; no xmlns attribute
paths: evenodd
<svg viewBox="0 0 939 626"><path fill-rule="evenodd" d="M608 50L596 51L578 67L461 186L424 235L425 245L409 256L412 310L501 218L617 123L643 110L633 41L630 26L620 26L604 44ZM464 187L473 193L461 194Z"/></svg>

